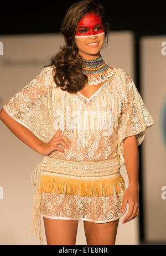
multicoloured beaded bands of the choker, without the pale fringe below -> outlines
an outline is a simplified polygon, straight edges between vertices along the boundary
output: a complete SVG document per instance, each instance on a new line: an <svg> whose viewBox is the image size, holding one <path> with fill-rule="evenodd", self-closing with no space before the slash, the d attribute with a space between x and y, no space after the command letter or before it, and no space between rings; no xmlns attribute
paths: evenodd
<svg viewBox="0 0 166 256"><path fill-rule="evenodd" d="M82 72L85 74L94 74L99 73L107 69L108 66L106 65L105 61L103 61L102 56L98 57L97 59L93 59L89 61L87 59L83 59L83 69Z"/></svg>

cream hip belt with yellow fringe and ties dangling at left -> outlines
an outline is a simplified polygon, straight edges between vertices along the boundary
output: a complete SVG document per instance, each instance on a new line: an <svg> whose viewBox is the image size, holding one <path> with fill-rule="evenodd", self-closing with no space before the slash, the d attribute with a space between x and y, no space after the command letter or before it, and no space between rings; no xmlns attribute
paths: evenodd
<svg viewBox="0 0 166 256"><path fill-rule="evenodd" d="M33 174L34 178L32 178ZM125 180L120 174L119 156L96 162L63 160L46 156L35 168L32 177L32 183L36 188L31 231L35 231L40 238L40 244L43 244L40 220L42 193L102 197L120 193L121 190L125 191ZM34 181L35 177L36 181Z"/></svg>

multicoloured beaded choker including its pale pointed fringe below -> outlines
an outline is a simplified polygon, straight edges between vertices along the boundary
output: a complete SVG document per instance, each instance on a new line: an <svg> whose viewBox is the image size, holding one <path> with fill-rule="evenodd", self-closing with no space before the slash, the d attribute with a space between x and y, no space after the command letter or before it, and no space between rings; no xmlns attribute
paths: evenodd
<svg viewBox="0 0 166 256"><path fill-rule="evenodd" d="M95 84L97 86L97 84L108 80L112 76L112 72L103 61L101 54L100 57L93 60L83 59L82 63L82 73L86 74L90 85ZM95 73L96 75L94 76L93 74Z"/></svg>

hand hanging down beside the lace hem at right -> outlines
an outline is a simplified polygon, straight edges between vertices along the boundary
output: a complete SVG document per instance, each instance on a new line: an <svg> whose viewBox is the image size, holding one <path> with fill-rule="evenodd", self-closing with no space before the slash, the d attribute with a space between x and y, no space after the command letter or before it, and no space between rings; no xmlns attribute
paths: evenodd
<svg viewBox="0 0 166 256"><path fill-rule="evenodd" d="M133 186L128 187L125 190L121 208L122 212L124 212L127 203L129 204L129 210L123 219L123 224L129 222L131 219L136 218L139 214L139 189Z"/></svg>

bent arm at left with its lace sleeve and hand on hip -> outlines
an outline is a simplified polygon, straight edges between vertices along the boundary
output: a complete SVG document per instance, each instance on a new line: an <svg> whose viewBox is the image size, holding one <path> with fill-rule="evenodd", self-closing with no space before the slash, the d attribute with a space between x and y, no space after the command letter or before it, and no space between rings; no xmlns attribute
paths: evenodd
<svg viewBox="0 0 166 256"><path fill-rule="evenodd" d="M4 104L0 112L2 122L22 142L44 156L54 150L64 152L58 145L68 148L67 143L70 143L61 135L60 129L55 133L50 122L51 73L50 67L43 68L37 77Z"/></svg>

